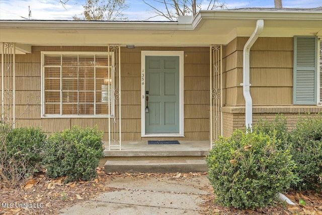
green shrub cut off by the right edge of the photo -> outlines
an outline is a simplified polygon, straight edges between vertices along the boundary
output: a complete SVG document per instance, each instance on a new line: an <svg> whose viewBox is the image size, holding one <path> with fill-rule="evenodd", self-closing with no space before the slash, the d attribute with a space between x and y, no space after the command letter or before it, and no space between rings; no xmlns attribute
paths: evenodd
<svg viewBox="0 0 322 215"><path fill-rule="evenodd" d="M322 120L320 115L300 117L292 130L289 141L295 161L295 173L300 181L297 190L322 190Z"/></svg>

